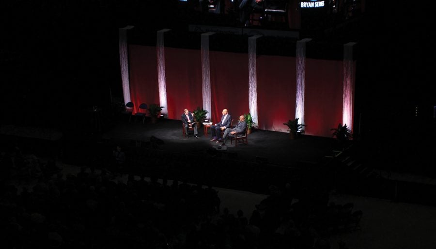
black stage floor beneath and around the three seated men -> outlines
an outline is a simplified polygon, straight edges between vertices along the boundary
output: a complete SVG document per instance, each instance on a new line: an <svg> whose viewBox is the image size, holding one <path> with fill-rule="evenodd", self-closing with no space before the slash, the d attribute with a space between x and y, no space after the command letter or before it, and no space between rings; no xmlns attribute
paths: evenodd
<svg viewBox="0 0 436 249"><path fill-rule="evenodd" d="M162 119L157 124L151 122L117 123L110 130L102 133L102 139L112 140L124 146L130 146L133 140L149 142L154 136L163 141L159 150L196 155L205 153L218 147L218 143L211 142L211 135L205 136L203 127L199 128L199 139L190 134L189 139L182 135L181 121ZM265 160L268 164L294 167L299 162L316 164L330 155L334 150L333 138L302 135L295 140L289 139L288 133L253 130L248 135L248 144L238 143L236 147L226 143L226 150L219 150L222 154L231 154L232 158L245 162Z"/></svg>

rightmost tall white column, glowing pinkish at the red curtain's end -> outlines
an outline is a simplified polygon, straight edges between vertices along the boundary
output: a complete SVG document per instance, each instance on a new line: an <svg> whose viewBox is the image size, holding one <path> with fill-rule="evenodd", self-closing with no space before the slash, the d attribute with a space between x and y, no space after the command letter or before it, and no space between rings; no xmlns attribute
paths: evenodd
<svg viewBox="0 0 436 249"><path fill-rule="evenodd" d="M342 96L342 124L352 129L353 122L353 46L355 42L343 45L343 96Z"/></svg>

